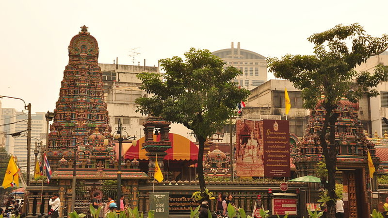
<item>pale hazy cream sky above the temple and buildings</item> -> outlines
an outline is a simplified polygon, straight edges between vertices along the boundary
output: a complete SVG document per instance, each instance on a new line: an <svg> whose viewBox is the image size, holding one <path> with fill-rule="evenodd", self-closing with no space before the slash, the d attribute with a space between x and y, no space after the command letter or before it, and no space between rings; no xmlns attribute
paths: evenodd
<svg viewBox="0 0 388 218"><path fill-rule="evenodd" d="M358 22L388 33L387 0L0 1L0 95L23 98L33 112L54 110L68 45L80 26L99 43L99 63L158 65L190 47L216 51L241 43L263 56L311 54L306 38ZM23 109L1 99L4 108Z"/></svg>

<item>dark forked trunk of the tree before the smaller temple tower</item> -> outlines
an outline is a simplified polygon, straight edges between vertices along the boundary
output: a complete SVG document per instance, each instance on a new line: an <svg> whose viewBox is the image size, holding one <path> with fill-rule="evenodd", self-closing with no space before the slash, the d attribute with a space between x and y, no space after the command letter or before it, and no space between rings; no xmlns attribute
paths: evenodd
<svg viewBox="0 0 388 218"><path fill-rule="evenodd" d="M335 142L336 122L339 116L338 113L332 113L336 106L326 105L325 121L322 127L322 131L319 134L320 145L325 156L326 169L327 169L327 193L331 199L336 199L336 165L337 165L337 153L338 149ZM326 141L327 127L329 127L329 144ZM335 218L335 200L327 202L327 216L328 218Z"/></svg>

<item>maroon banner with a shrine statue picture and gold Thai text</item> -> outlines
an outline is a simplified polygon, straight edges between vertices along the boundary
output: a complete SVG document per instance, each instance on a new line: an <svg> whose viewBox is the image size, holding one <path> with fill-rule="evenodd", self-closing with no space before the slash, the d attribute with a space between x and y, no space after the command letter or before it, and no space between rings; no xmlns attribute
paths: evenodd
<svg viewBox="0 0 388 218"><path fill-rule="evenodd" d="M235 159L237 176L289 176L288 121L237 120Z"/></svg>

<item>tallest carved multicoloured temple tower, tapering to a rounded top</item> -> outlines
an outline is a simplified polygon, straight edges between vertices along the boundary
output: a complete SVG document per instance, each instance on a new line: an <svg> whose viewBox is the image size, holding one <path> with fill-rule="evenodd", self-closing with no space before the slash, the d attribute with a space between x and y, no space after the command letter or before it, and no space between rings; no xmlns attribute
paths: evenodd
<svg viewBox="0 0 388 218"><path fill-rule="evenodd" d="M68 50L69 63L63 73L54 124L50 126L47 151L50 166L54 170L60 165L71 167L75 152L80 167L108 167L116 159L112 141L104 145L111 126L98 66L97 40L88 27L82 26L71 39Z"/></svg>

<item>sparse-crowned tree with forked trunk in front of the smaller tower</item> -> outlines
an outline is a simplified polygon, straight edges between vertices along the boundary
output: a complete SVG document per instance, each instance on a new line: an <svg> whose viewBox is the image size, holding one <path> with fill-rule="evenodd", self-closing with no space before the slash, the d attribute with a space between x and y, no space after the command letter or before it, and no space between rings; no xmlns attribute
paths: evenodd
<svg viewBox="0 0 388 218"><path fill-rule="evenodd" d="M373 89L381 80L387 79L383 66L377 66L374 73L356 72L354 68L372 55L384 51L388 37L372 37L365 34L358 23L316 33L307 39L314 43L314 55L286 54L281 59L268 58L268 66L276 77L293 82L302 91L304 107L315 109L320 105L326 110L324 124L319 134L320 146L328 172L327 190L331 199L336 199L335 171L338 147L335 141L335 113L341 98L357 102L364 94L378 96ZM350 47L351 45L351 47ZM321 99L321 96L323 99ZM335 202L329 201L328 217L335 216Z"/></svg>

